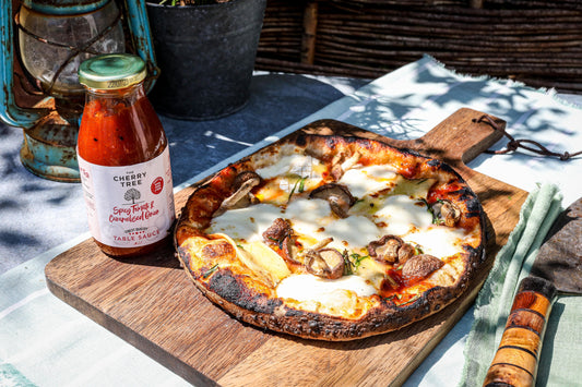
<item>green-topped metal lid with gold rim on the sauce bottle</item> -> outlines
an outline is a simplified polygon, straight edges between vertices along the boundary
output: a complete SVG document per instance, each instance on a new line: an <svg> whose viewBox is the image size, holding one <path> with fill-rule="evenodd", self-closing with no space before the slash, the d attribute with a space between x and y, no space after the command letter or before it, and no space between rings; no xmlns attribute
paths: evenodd
<svg viewBox="0 0 582 387"><path fill-rule="evenodd" d="M90 88L112 90L142 82L145 62L131 53L107 53L87 59L79 66L79 82Z"/></svg>

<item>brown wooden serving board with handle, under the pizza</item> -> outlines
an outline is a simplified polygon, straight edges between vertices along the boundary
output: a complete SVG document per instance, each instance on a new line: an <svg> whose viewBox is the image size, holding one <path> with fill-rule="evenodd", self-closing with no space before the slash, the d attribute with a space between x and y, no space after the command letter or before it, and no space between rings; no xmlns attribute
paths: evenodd
<svg viewBox="0 0 582 387"><path fill-rule="evenodd" d="M302 129L377 138L444 160L482 201L488 219L487 269L463 298L401 330L348 342L324 342L242 324L198 291L170 246L140 258L117 261L86 240L46 266L48 288L197 386L401 385L470 307L496 253L518 222L527 195L465 166L502 136L491 125L477 122L482 116L461 109L413 141L394 141L330 120ZM504 126L503 121L494 120ZM183 206L193 189L176 195L176 208Z"/></svg>

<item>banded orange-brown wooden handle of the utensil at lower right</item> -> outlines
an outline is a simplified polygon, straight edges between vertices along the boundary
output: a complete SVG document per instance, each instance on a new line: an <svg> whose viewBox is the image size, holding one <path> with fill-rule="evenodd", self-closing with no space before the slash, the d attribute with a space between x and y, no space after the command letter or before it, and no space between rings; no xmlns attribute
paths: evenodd
<svg viewBox="0 0 582 387"><path fill-rule="evenodd" d="M555 298L556 287L545 279L526 277L520 282L484 386L534 385L547 317Z"/></svg>

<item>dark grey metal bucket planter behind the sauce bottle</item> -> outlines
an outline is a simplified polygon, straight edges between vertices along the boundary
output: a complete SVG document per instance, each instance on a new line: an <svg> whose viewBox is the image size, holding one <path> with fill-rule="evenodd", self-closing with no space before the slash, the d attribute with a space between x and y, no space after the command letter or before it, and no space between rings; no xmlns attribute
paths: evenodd
<svg viewBox="0 0 582 387"><path fill-rule="evenodd" d="M266 0L147 0L162 114L207 120L249 99Z"/></svg>

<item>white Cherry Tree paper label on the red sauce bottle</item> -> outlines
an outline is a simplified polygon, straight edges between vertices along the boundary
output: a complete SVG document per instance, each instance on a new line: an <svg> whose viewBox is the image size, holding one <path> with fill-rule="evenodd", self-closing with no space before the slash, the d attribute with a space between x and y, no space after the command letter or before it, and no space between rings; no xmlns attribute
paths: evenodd
<svg viewBox="0 0 582 387"><path fill-rule="evenodd" d="M106 167L79 157L91 234L114 247L139 247L168 235L175 219L169 149L145 162Z"/></svg>

